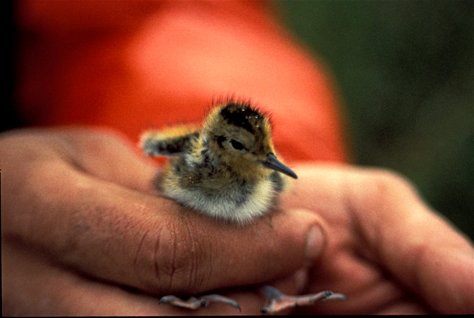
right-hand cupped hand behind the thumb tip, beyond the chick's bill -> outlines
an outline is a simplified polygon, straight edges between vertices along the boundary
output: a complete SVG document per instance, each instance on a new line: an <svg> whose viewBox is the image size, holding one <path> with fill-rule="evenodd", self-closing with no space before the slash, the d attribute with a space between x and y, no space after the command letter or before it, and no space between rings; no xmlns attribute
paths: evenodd
<svg viewBox="0 0 474 318"><path fill-rule="evenodd" d="M427 207L407 181L350 166L294 170L299 178L281 208L314 211L327 239L304 292L330 289L348 296L298 312L474 312L472 243Z"/></svg>

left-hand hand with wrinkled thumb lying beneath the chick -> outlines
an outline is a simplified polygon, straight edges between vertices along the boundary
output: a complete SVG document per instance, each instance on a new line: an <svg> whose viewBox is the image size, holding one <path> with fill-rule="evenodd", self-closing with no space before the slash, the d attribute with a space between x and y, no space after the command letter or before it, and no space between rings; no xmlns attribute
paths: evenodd
<svg viewBox="0 0 474 318"><path fill-rule="evenodd" d="M298 291L323 247L321 233L308 235L321 227L316 215L222 224L157 196L157 168L131 148L86 129L1 135L3 315L237 314L158 305L156 296L276 279ZM223 294L242 313L263 305L248 289Z"/></svg>

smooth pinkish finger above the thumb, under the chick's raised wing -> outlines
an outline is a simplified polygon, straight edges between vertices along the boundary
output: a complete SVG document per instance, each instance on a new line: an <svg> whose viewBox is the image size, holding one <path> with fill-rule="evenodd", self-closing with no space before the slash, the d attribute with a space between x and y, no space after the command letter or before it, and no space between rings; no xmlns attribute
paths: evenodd
<svg viewBox="0 0 474 318"><path fill-rule="evenodd" d="M18 136L16 144L31 144L35 139L42 147L49 145L79 171L102 180L140 191L153 191L156 166L147 163L142 149L116 131L65 127L45 129L33 138Z"/></svg>

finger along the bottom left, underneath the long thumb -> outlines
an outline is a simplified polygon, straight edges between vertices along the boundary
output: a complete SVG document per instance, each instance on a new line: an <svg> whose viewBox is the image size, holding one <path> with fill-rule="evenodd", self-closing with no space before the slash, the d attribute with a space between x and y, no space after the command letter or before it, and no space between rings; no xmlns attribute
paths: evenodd
<svg viewBox="0 0 474 318"><path fill-rule="evenodd" d="M242 304L242 314L257 314L262 299L252 291L227 293ZM213 303L197 311L159 304L159 298L94 281L55 266L38 251L2 244L4 316L187 316L236 315Z"/></svg>

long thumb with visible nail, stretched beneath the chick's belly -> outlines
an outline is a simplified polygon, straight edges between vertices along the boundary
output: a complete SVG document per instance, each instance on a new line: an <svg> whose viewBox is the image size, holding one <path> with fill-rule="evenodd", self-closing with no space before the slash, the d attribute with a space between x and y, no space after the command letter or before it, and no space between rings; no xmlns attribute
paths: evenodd
<svg viewBox="0 0 474 318"><path fill-rule="evenodd" d="M91 178L61 158L31 163L28 182L5 175L2 191L17 197L2 201L5 236L89 275L155 294L272 280L323 248L311 212L274 212L241 228Z"/></svg>

